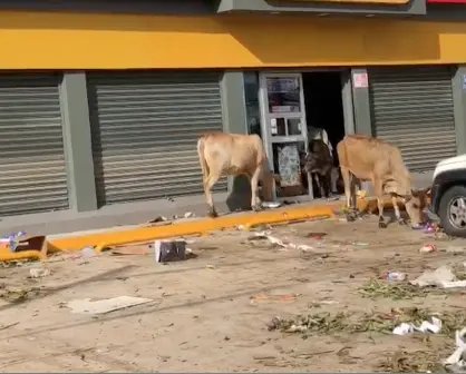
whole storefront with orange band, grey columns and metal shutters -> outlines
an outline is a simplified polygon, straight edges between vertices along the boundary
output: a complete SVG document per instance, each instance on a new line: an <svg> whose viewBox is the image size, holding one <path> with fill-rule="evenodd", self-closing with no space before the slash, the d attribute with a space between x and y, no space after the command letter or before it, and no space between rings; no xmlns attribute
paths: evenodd
<svg viewBox="0 0 466 374"><path fill-rule="evenodd" d="M157 11L134 0L132 13L65 2L0 4L3 215L202 195L195 146L206 131L260 134L282 187L303 199L309 180L281 160L305 151L310 128L333 147L348 132L379 136L411 171L466 151L466 22L423 19L424 0L297 1L279 13L263 0L195 10L173 0L169 13L158 0Z"/></svg>

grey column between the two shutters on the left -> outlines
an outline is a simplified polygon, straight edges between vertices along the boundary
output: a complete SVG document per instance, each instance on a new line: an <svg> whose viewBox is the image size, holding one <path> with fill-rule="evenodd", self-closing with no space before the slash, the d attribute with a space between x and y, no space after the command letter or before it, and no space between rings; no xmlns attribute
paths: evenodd
<svg viewBox="0 0 466 374"><path fill-rule="evenodd" d="M97 209L85 72L65 72L60 86L70 208Z"/></svg>

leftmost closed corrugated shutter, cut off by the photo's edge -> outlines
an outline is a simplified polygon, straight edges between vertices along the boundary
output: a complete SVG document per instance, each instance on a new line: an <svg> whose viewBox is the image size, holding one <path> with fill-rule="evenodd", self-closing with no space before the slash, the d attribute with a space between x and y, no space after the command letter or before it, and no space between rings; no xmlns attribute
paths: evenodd
<svg viewBox="0 0 466 374"><path fill-rule="evenodd" d="M0 214L68 205L59 79L0 75Z"/></svg>

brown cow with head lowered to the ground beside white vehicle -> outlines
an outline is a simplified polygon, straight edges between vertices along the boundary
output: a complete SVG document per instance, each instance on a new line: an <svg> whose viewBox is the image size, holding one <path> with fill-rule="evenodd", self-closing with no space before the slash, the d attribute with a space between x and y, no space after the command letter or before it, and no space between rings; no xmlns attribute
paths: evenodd
<svg viewBox="0 0 466 374"><path fill-rule="evenodd" d="M348 220L355 219L356 194L355 177L359 180L371 181L375 188L379 208L379 227L387 227L384 218L385 194L391 196L395 215L400 224L401 219L397 198L401 197L411 224L421 223L423 209L426 206L427 190L411 190L411 177L405 167L399 149L377 138L361 135L347 135L337 145L341 175L344 181L347 207L352 211L347 215Z"/></svg>

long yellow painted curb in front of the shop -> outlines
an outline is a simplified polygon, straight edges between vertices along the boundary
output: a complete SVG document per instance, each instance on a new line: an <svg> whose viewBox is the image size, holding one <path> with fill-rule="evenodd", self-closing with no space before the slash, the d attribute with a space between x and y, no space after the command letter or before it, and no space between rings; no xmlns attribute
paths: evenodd
<svg viewBox="0 0 466 374"><path fill-rule="evenodd" d="M391 206L389 199L384 201L387 208ZM188 223L175 223L164 226L140 226L128 229L108 229L106 232L80 234L52 239L48 243L48 252L57 250L78 250L86 246L96 247L99 252L107 246L149 242L167 237L178 237L186 235L205 234L212 230L232 228L243 225L249 228L255 225L280 224L287 222L309 220L319 218L330 218L334 216L334 210L341 209L344 201L327 203L320 206L292 206L287 208L271 209L260 213L233 214L219 218L204 218ZM373 198L358 199L359 209L372 210L377 208ZM27 253L10 253L7 248L0 249L0 260L11 260L37 257L45 259L40 250L28 250Z"/></svg>

